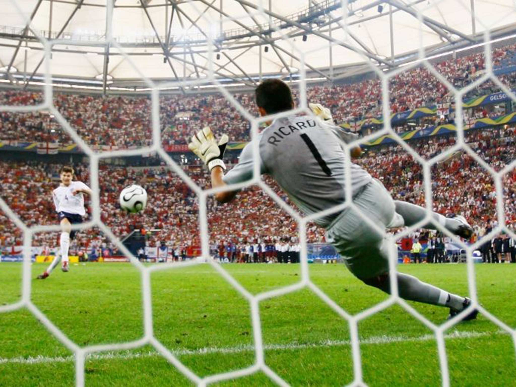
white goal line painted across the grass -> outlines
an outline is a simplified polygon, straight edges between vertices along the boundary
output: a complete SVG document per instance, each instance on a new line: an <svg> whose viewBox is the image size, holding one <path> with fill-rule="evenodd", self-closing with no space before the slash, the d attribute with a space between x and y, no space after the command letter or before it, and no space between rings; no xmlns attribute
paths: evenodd
<svg viewBox="0 0 516 387"><path fill-rule="evenodd" d="M457 338L476 338L490 335L502 335L508 334L505 331L495 332L467 332L467 331L454 331L453 333L445 335L447 339ZM391 343L402 343L402 342L425 342L432 341L435 339L433 334L426 334L423 336L407 337L407 336L373 336L360 340L361 345L378 345L378 344L391 344ZM349 340L327 340L319 343L312 344L266 344L264 350L296 350L296 349L307 349L307 348L325 348L325 347L341 347L350 345ZM235 347L218 348L218 347L205 347L200 349L180 349L172 351L175 356L182 355L203 355L211 353L222 353L232 354L241 352L254 352L253 345L241 345ZM138 359L138 358L149 358L159 357L160 354L156 351L149 352L132 352L132 351L116 351L106 353L92 353L86 356L86 360L126 360L126 359ZM39 363L66 363L73 362L74 356L66 357L17 357L17 358L0 358L0 364L39 364Z"/></svg>

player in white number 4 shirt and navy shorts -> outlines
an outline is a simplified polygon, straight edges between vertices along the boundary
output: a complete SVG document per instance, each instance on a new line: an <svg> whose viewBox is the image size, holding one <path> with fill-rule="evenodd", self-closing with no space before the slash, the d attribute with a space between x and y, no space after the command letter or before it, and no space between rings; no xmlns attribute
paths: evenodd
<svg viewBox="0 0 516 387"><path fill-rule="evenodd" d="M73 168L61 168L61 184L54 189L52 197L56 206L59 224L61 225L61 236L59 238L59 251L56 253L54 260L43 274L38 276L39 280L44 280L59 261L62 259L61 270L68 271L68 249L70 248L70 240L73 240L76 231L71 230L72 224L82 223L83 216L86 215L84 209L84 193L91 196L91 189L83 182L74 182Z"/></svg>

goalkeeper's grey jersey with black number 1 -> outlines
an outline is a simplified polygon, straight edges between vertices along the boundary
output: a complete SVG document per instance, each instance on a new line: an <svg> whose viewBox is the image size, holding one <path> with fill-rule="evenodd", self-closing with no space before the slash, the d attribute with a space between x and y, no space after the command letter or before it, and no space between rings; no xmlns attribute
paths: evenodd
<svg viewBox="0 0 516 387"><path fill-rule="evenodd" d="M350 142L356 135L311 116L293 115L274 120L259 136L261 173L270 174L302 212L310 215L343 203L344 151L336 136ZM241 183L252 175L253 150L248 143L224 182ZM371 180L369 173L351 164L353 195ZM316 223L328 227L337 215Z"/></svg>

